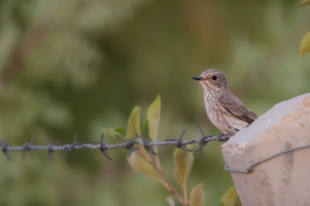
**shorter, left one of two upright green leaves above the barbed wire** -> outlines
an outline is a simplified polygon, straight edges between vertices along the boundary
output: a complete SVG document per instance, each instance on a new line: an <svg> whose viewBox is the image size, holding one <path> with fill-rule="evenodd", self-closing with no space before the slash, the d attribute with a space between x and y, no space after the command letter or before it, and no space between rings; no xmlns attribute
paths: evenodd
<svg viewBox="0 0 310 206"><path fill-rule="evenodd" d="M133 138L135 133L140 134L140 112L140 106L135 106L132 110L128 120L126 139Z"/></svg>

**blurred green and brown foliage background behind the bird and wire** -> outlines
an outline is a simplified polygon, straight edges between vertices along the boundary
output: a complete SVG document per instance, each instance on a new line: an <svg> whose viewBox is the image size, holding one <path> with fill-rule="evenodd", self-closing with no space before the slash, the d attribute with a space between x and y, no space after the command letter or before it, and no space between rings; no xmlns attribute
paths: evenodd
<svg viewBox="0 0 310 206"><path fill-rule="evenodd" d="M257 115L309 92L310 55L299 45L310 31L310 7L298 1L2 0L0 1L0 137L10 145L100 139L102 128L126 128L135 105L161 95L158 140L216 134L201 85L207 69ZM108 143L115 139L107 137ZM194 153L188 191L200 182L207 205L233 185L220 142ZM173 146L159 148L172 175ZM160 183L128 165L123 148L0 156L0 205L168 205Z"/></svg>

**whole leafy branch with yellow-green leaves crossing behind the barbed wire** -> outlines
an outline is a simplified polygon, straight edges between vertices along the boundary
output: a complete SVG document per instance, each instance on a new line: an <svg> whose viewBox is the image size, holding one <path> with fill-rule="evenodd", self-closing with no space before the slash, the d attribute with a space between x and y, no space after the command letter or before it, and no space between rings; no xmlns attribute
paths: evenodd
<svg viewBox="0 0 310 206"><path fill-rule="evenodd" d="M147 120L144 126L145 129L145 137L149 137L153 142L157 142L158 135L158 126L160 119L160 109L161 109L161 100L158 95L155 101L149 106L147 111ZM133 109L127 126L127 133L124 137L125 139L131 139L133 136L137 138L141 138L141 130L140 130L140 112L141 107L135 106ZM110 129L111 132L111 129ZM116 133L117 131L113 131ZM117 132L118 136L123 138L119 132ZM184 205L192 205L192 206L204 206L205 198L202 189L202 183L200 183L197 187L195 187L191 192L191 198L188 200L187 194L187 179L188 175L192 169L194 156L190 151L186 151L186 158L184 157L184 149L176 148L173 152L175 169L174 176L177 182L183 188L183 196L175 189L175 187L170 182L167 175L162 170L160 165L159 157L157 155L157 146L153 146L152 152L147 151L143 145L135 144L135 150L131 153L127 160L131 167L142 173L146 174L149 177L159 181L162 183L168 191L171 191L172 197L167 198L167 201L171 205L175 205L175 201L179 201Z"/></svg>

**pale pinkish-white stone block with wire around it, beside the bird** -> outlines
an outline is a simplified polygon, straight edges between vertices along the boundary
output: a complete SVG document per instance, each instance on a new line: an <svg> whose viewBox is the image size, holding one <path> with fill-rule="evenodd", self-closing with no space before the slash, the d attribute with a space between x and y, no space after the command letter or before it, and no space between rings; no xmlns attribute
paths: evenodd
<svg viewBox="0 0 310 206"><path fill-rule="evenodd" d="M289 148L310 144L310 93L276 104L250 127L222 145L230 169L251 164ZM310 205L310 148L287 152L253 168L231 172L243 206Z"/></svg>

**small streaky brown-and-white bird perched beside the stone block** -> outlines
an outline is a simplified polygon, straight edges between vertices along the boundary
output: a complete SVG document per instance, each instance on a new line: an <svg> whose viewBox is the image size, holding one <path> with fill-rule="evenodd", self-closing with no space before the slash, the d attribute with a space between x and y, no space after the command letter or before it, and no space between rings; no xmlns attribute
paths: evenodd
<svg viewBox="0 0 310 206"><path fill-rule="evenodd" d="M232 94L223 72L210 69L193 79L202 85L208 117L215 127L223 131L223 135L234 135L258 118Z"/></svg>

